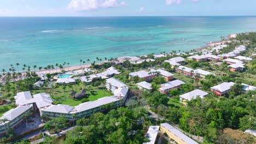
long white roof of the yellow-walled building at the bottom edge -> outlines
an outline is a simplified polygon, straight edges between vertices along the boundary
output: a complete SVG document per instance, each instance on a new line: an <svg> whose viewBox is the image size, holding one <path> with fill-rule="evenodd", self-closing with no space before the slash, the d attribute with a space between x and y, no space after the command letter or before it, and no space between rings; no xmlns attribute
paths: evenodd
<svg viewBox="0 0 256 144"><path fill-rule="evenodd" d="M189 144L198 144L197 142L195 142L194 140L190 139L190 137L188 137L187 135L183 134L178 129L172 127L172 125L170 125L168 123L161 123L160 125L162 125L162 127L165 127L166 129L171 131L171 133L173 133L174 135L179 137L179 139L182 139L184 142L189 143Z"/></svg>

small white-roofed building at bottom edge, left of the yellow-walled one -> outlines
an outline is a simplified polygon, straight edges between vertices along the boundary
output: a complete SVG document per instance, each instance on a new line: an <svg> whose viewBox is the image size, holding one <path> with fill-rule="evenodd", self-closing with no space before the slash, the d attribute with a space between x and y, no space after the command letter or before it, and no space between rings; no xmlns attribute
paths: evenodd
<svg viewBox="0 0 256 144"><path fill-rule="evenodd" d="M156 137L158 136L158 130L160 126L155 125L155 126L150 126L148 128L146 138L150 140L149 142L144 142L143 144L154 144L156 141Z"/></svg>

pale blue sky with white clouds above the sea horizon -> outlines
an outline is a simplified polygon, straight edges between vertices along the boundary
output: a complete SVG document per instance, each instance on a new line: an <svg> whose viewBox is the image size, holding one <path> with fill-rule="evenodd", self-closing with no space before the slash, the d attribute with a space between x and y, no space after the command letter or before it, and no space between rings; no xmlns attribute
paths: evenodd
<svg viewBox="0 0 256 144"><path fill-rule="evenodd" d="M0 0L0 16L255 16L256 0Z"/></svg>

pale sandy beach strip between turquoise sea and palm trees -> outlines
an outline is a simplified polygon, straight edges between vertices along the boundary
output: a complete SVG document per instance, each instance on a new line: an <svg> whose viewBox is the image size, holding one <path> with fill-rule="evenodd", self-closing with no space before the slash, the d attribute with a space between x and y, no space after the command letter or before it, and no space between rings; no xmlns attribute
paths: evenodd
<svg viewBox="0 0 256 144"><path fill-rule="evenodd" d="M229 34L228 36L228 39L230 38L235 38L236 37L236 34ZM222 43L226 43L226 42L229 42L229 40L225 40L225 41L222 41L222 40L219 40L219 41L210 41L210 43L205 43L206 45L205 46L201 46L200 48L197 48L197 49L194 49L196 52L201 52L201 51L204 51L206 49L208 49L209 47L212 47L214 45L220 45ZM159 53L160 54L160 53ZM157 54L157 55L159 55ZM129 56L127 56L129 57ZM120 58L120 57L118 57ZM102 63L96 63L96 64L102 64ZM91 64L85 64L85 65L74 65L74 66L69 66L69 67L65 67L63 68L64 71L72 71L72 70L78 70L78 69L84 69L84 68L90 68ZM47 69L47 70L36 70L36 71L33 71L31 70L30 72L35 72L36 74L46 74L46 73L49 73L49 74L54 74L54 73L60 73L61 72L61 69L60 68L55 68L55 69ZM25 75L26 72L21 72L22 75Z"/></svg>

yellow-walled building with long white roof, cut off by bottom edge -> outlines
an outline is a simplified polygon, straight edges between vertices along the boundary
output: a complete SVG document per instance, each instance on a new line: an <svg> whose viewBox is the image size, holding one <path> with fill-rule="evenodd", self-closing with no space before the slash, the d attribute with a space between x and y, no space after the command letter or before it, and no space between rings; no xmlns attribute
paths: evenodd
<svg viewBox="0 0 256 144"><path fill-rule="evenodd" d="M161 123L160 131L162 131L162 133L166 133L170 139L174 140L178 144L198 144L168 123Z"/></svg>

